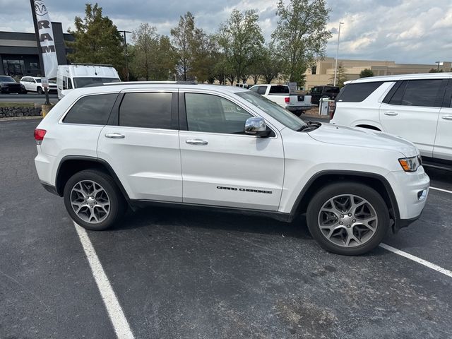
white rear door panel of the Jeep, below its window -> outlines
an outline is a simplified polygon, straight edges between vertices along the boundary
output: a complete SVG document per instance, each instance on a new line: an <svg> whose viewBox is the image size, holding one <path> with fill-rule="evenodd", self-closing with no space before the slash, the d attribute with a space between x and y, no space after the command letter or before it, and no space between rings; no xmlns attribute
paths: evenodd
<svg viewBox="0 0 452 339"><path fill-rule="evenodd" d="M177 131L105 126L97 157L112 166L130 198L182 201Z"/></svg>

